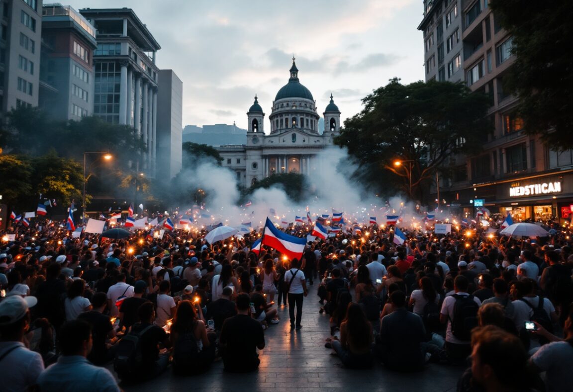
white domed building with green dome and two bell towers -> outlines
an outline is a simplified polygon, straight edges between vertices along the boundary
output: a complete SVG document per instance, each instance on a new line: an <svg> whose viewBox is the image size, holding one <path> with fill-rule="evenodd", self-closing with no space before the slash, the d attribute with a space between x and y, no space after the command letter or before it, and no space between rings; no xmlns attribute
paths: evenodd
<svg viewBox="0 0 573 392"><path fill-rule="evenodd" d="M265 134L265 113L255 96L246 113L247 144L217 147L223 166L235 171L242 186L250 187L276 173L312 175L321 167L317 154L333 146L340 132L340 111L332 95L323 112L324 131L320 134L316 101L300 83L295 58L289 72L288 83L278 90L272 103L269 134Z"/></svg>

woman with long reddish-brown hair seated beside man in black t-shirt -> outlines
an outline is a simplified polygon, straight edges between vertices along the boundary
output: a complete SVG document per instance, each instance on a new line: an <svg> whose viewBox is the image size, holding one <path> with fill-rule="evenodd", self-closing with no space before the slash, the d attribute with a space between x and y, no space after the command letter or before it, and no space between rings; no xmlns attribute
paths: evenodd
<svg viewBox="0 0 573 392"><path fill-rule="evenodd" d="M201 319L201 307L188 300L179 303L170 330L176 374L202 373L215 359L217 335L207 332Z"/></svg>

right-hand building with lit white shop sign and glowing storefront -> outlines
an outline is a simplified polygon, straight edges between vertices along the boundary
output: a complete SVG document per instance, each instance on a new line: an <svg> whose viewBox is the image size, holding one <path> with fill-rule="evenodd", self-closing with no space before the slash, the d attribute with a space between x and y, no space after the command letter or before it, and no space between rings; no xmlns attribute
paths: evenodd
<svg viewBox="0 0 573 392"><path fill-rule="evenodd" d="M441 2L433 3L439 9ZM555 218L563 222L573 206L573 151L552 151L538 136L523 132L516 111L519 100L504 89L515 60L511 35L500 27L487 0L457 4L462 80L472 91L490 97L492 129L483 134L480 154L452 158L452 174L440 175L441 199L467 215L483 205L490 213L500 214L499 219L510 212L514 221Z"/></svg>

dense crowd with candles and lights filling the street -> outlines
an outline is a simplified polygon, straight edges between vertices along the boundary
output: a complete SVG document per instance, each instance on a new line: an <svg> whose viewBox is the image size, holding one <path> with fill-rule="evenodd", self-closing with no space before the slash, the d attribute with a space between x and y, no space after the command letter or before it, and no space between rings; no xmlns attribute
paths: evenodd
<svg viewBox="0 0 573 392"><path fill-rule="evenodd" d="M316 284L325 347L345 367L418 371L470 358L460 391L573 390L573 249L568 232L551 229L536 239L403 229L395 243L393 227L362 226L289 259L253 252L256 232L209 244L205 230L109 240L16 226L0 245L2 383L69 390L81 378L85 390L115 391L111 364L124 383L168 368L203 373L219 359L254 371L267 328L304 333Z"/></svg>

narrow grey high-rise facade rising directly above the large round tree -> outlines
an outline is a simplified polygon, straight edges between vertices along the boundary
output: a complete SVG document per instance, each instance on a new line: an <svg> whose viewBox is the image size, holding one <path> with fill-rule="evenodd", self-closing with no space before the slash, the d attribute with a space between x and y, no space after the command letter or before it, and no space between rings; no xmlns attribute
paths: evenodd
<svg viewBox="0 0 573 392"><path fill-rule="evenodd" d="M424 0L418 26L424 37L426 81L464 80L461 0Z"/></svg>

